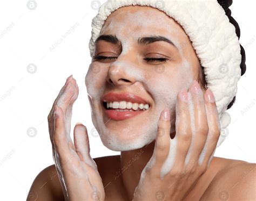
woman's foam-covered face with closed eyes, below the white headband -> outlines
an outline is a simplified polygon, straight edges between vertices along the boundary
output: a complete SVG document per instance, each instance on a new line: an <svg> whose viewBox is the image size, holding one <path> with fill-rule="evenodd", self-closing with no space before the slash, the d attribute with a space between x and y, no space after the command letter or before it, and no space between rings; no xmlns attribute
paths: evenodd
<svg viewBox="0 0 256 201"><path fill-rule="evenodd" d="M85 84L92 122L104 146L124 151L152 142L156 138L160 112L165 107L170 109L171 133L174 132L177 95L197 80L200 64L183 28L158 9L136 5L112 12L100 35L113 37L98 40L93 55L112 60L92 59ZM137 115L123 120L110 118L102 99L110 92L139 96L149 104L149 109L133 112ZM139 100L134 103L140 104ZM117 113L120 118L122 112Z"/></svg>

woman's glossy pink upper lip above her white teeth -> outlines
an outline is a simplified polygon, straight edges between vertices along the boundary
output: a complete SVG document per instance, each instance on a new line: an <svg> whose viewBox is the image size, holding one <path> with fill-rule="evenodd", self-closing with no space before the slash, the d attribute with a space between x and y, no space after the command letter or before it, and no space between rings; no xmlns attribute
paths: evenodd
<svg viewBox="0 0 256 201"><path fill-rule="evenodd" d="M142 97L139 97L135 94L130 94L128 92L123 92L121 94L110 92L108 94L103 95L102 100L103 100L103 102L114 102L114 101L120 102L122 100L125 100L126 102L143 103L144 105L149 104Z"/></svg>

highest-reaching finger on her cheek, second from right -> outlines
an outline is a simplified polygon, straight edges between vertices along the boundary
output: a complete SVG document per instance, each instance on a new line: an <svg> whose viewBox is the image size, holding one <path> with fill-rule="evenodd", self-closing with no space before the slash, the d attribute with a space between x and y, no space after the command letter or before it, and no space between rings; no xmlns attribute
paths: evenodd
<svg viewBox="0 0 256 201"><path fill-rule="evenodd" d="M193 104L191 111L192 141L188 150L187 161L190 167L198 164L199 155L204 148L208 135L208 122L206 116L204 94L197 81L193 81L189 92Z"/></svg>

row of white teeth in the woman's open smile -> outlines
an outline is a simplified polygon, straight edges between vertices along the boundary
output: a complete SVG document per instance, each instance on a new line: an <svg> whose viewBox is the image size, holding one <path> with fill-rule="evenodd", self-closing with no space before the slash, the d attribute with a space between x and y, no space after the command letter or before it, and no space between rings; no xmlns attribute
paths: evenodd
<svg viewBox="0 0 256 201"><path fill-rule="evenodd" d="M143 104L143 103L132 103L132 102L126 102L126 101L114 101L114 102L106 102L107 108L113 108L113 109L133 109L133 110L147 110L149 109L149 104ZM117 111L132 111L132 110L117 110Z"/></svg>

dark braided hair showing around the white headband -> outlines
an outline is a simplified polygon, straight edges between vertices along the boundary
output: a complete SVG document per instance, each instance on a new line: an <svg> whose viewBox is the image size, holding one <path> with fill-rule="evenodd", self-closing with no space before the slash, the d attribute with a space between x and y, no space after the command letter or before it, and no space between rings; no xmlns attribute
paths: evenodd
<svg viewBox="0 0 256 201"><path fill-rule="evenodd" d="M218 0L218 3L221 5L221 7L225 10L226 16L228 17L228 19L230 20L230 23L234 25L235 27L235 33L238 36L238 39L240 39L240 28L239 25L237 23L237 21L235 21L235 19L231 16L231 10L228 8L232 5L233 1L232 0ZM240 64L240 68L241 68L241 76L245 74L246 71L246 64L245 64L245 49L240 45L241 48L241 55L242 55L242 60L241 60L241 64ZM202 66L202 69L204 70L204 67ZM198 81L201 82L201 85L203 85L203 88L206 89L206 80L205 80L205 75L204 75L204 71L202 70L202 73L199 74L199 78ZM235 96L232 99L232 101L228 104L227 106L227 110L230 109L232 107L232 105L235 102Z"/></svg>

